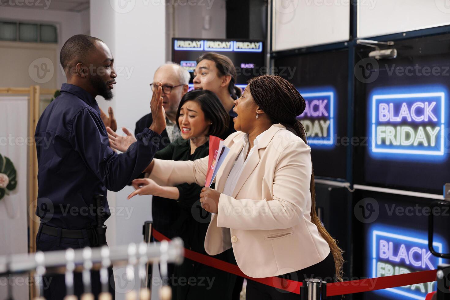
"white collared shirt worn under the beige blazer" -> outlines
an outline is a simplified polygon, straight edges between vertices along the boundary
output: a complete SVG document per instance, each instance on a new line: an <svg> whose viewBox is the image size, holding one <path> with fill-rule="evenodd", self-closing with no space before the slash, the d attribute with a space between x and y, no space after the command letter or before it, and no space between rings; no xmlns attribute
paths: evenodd
<svg viewBox="0 0 450 300"><path fill-rule="evenodd" d="M248 141L248 134L244 134L243 136L243 143L244 147L242 148L241 152L238 154L238 157L236 161L234 161L234 166L229 172L228 178L225 182L224 191L223 194L227 196L231 196L234 188L236 187L236 184L238 183L239 177L242 174L242 171L244 170L245 166L247 165L248 158L257 150L258 147L258 141L261 139L262 135L266 131L259 134L256 139L253 141L253 147L250 149L250 152L248 152L247 159L245 159L245 155L247 154L248 147L250 147L250 142Z"/></svg>

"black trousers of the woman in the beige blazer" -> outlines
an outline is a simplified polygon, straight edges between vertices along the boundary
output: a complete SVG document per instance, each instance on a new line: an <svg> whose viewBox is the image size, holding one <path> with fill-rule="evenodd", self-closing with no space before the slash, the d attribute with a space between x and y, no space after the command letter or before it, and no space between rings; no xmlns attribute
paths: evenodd
<svg viewBox="0 0 450 300"><path fill-rule="evenodd" d="M336 274L333 255L330 254L321 262L311 267L278 277L302 282L307 278L319 278L323 281L333 282ZM288 291L279 290L263 283L248 280L246 300L299 300L300 296ZM328 299L328 297L327 297ZM333 298L330 298L333 299Z"/></svg>

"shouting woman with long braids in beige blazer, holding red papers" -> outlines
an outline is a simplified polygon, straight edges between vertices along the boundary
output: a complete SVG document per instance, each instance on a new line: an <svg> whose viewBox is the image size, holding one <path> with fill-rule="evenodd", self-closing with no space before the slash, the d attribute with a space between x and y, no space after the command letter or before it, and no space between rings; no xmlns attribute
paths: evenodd
<svg viewBox="0 0 450 300"><path fill-rule="evenodd" d="M279 276L302 281L341 280L342 251L315 212L311 148L297 116L305 100L279 76L253 78L234 101L236 133L216 177L203 188L202 207L214 213L205 250L216 255L233 248L239 268L252 278ZM160 161L149 177L163 184L204 184L208 157ZM253 280L247 300L298 299L298 295Z"/></svg>

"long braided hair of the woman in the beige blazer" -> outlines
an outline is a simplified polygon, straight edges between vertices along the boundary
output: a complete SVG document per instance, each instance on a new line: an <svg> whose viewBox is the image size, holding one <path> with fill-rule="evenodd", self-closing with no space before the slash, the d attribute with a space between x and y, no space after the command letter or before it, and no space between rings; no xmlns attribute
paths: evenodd
<svg viewBox="0 0 450 300"><path fill-rule="evenodd" d="M305 110L305 99L295 86L282 77L262 75L250 80L248 87L255 102L274 124L280 123L308 144L305 127L297 120L297 116ZM328 242L336 266L336 277L338 281L342 281L342 265L344 263L342 250L338 247L337 241L324 228L315 211L314 169L311 173L310 192L311 222L317 226L320 235Z"/></svg>

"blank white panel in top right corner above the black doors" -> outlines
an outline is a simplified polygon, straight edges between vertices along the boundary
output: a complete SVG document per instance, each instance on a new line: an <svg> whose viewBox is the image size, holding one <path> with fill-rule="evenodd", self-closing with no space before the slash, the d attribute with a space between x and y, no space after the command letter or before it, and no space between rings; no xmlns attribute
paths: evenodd
<svg viewBox="0 0 450 300"><path fill-rule="evenodd" d="M370 2L374 2L371 5ZM365 0L358 6L358 37L450 24L448 0Z"/></svg>

